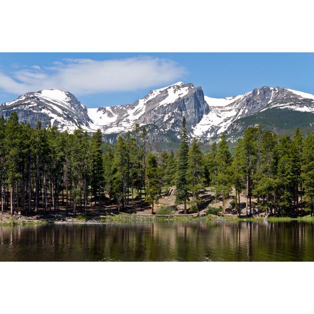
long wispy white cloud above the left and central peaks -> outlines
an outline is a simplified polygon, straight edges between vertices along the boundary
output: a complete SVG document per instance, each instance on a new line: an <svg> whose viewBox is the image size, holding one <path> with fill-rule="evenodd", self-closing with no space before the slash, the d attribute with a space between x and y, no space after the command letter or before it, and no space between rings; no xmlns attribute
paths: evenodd
<svg viewBox="0 0 314 314"><path fill-rule="evenodd" d="M182 78L185 69L161 58L135 57L111 60L64 59L52 67L0 72L0 89L24 94L41 89L61 89L75 95L132 91L172 83Z"/></svg>

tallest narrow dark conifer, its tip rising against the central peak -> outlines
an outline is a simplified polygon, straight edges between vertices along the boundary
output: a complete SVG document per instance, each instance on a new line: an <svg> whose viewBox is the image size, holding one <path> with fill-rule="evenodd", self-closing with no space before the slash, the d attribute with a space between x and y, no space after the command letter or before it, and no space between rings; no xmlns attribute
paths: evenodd
<svg viewBox="0 0 314 314"><path fill-rule="evenodd" d="M185 117L182 119L181 141L178 151L178 167L177 167L177 185L176 185L176 204L184 203L184 214L186 214L186 202L188 197L187 187L187 159L188 159L188 143Z"/></svg>

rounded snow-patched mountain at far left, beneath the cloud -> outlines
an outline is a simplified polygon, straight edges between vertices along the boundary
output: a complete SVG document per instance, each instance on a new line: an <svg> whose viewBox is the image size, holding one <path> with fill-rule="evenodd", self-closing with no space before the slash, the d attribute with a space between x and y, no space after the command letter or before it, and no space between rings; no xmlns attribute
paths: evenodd
<svg viewBox="0 0 314 314"><path fill-rule="evenodd" d="M5 118L13 111L17 112L20 122L32 127L41 121L43 127L74 130L79 125L88 128L92 122L87 108L74 95L56 89L26 93L13 102L0 105L0 115Z"/></svg>

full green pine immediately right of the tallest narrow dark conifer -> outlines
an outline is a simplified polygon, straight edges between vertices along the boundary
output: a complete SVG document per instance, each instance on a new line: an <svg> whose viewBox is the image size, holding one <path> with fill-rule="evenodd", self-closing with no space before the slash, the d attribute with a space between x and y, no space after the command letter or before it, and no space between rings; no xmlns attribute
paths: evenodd
<svg viewBox="0 0 314 314"><path fill-rule="evenodd" d="M200 190L204 188L204 156L196 138L193 138L192 145L188 151L187 183L192 194L191 208L195 208L199 215L198 203Z"/></svg>

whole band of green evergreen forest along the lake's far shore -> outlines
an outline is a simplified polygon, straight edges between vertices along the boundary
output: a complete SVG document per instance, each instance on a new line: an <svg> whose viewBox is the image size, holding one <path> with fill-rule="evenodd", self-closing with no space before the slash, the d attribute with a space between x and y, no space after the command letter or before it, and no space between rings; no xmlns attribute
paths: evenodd
<svg viewBox="0 0 314 314"><path fill-rule="evenodd" d="M196 138L188 140L183 117L180 141L176 153L151 152L139 125L111 145L100 130L60 132L40 122L31 128L13 112L0 118L1 212L75 215L107 203L124 212L137 202L154 213L162 191L173 186L183 213L199 213L207 189L210 205L222 201L222 213L258 208L277 216L313 215L314 134L296 129L278 138L260 125L247 128L232 147L222 134L204 152Z"/></svg>

